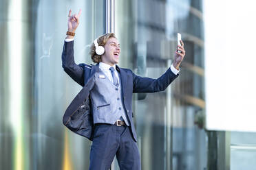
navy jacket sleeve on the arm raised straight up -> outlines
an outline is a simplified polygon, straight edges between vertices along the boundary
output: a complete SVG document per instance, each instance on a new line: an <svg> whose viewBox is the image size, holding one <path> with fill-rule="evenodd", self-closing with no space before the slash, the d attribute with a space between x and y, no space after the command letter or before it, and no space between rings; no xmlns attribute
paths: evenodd
<svg viewBox="0 0 256 170"><path fill-rule="evenodd" d="M70 75L75 82L84 86L83 64L76 64L74 62L74 41L64 42L61 59L64 71Z"/></svg>

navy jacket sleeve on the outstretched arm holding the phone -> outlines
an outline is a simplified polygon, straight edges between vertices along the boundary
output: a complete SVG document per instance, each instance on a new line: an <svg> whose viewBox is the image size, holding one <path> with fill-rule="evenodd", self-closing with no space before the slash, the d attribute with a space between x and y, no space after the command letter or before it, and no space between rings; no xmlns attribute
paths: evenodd
<svg viewBox="0 0 256 170"><path fill-rule="evenodd" d="M175 75L169 68L158 79L149 77L140 77L134 73L133 75L133 93L154 93L165 90L179 74Z"/></svg>

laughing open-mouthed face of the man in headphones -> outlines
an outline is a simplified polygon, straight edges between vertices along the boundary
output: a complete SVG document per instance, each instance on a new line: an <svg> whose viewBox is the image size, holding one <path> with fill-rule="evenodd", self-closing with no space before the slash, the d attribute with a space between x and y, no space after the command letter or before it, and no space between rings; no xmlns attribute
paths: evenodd
<svg viewBox="0 0 256 170"><path fill-rule="evenodd" d="M105 53L103 54L101 61L111 66L118 64L120 55L120 44L118 43L118 40L114 37L109 38L104 48Z"/></svg>

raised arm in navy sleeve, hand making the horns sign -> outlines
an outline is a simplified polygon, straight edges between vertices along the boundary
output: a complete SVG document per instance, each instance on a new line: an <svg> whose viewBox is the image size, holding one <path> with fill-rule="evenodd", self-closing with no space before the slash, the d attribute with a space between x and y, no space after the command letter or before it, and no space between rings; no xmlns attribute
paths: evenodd
<svg viewBox="0 0 256 170"><path fill-rule="evenodd" d="M81 10L78 12L78 14L71 15L71 12L72 11L70 10L68 14L67 31L75 33L79 25L79 17L81 16ZM67 35L66 38L74 38L74 36ZM74 81L83 86L83 66L78 65L74 62L74 40L71 40L70 42L67 42L65 40L61 59L64 71L68 75L70 75L70 77L72 77Z"/></svg>

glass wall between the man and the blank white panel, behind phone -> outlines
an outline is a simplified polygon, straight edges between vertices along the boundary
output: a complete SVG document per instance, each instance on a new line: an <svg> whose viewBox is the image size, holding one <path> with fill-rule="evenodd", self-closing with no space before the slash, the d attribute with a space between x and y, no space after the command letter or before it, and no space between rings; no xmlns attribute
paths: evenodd
<svg viewBox="0 0 256 170"><path fill-rule="evenodd" d="M186 49L167 90L134 95L142 169L206 168L202 1L120 0L115 14L120 65L138 75L157 78L169 69L178 32Z"/></svg>

